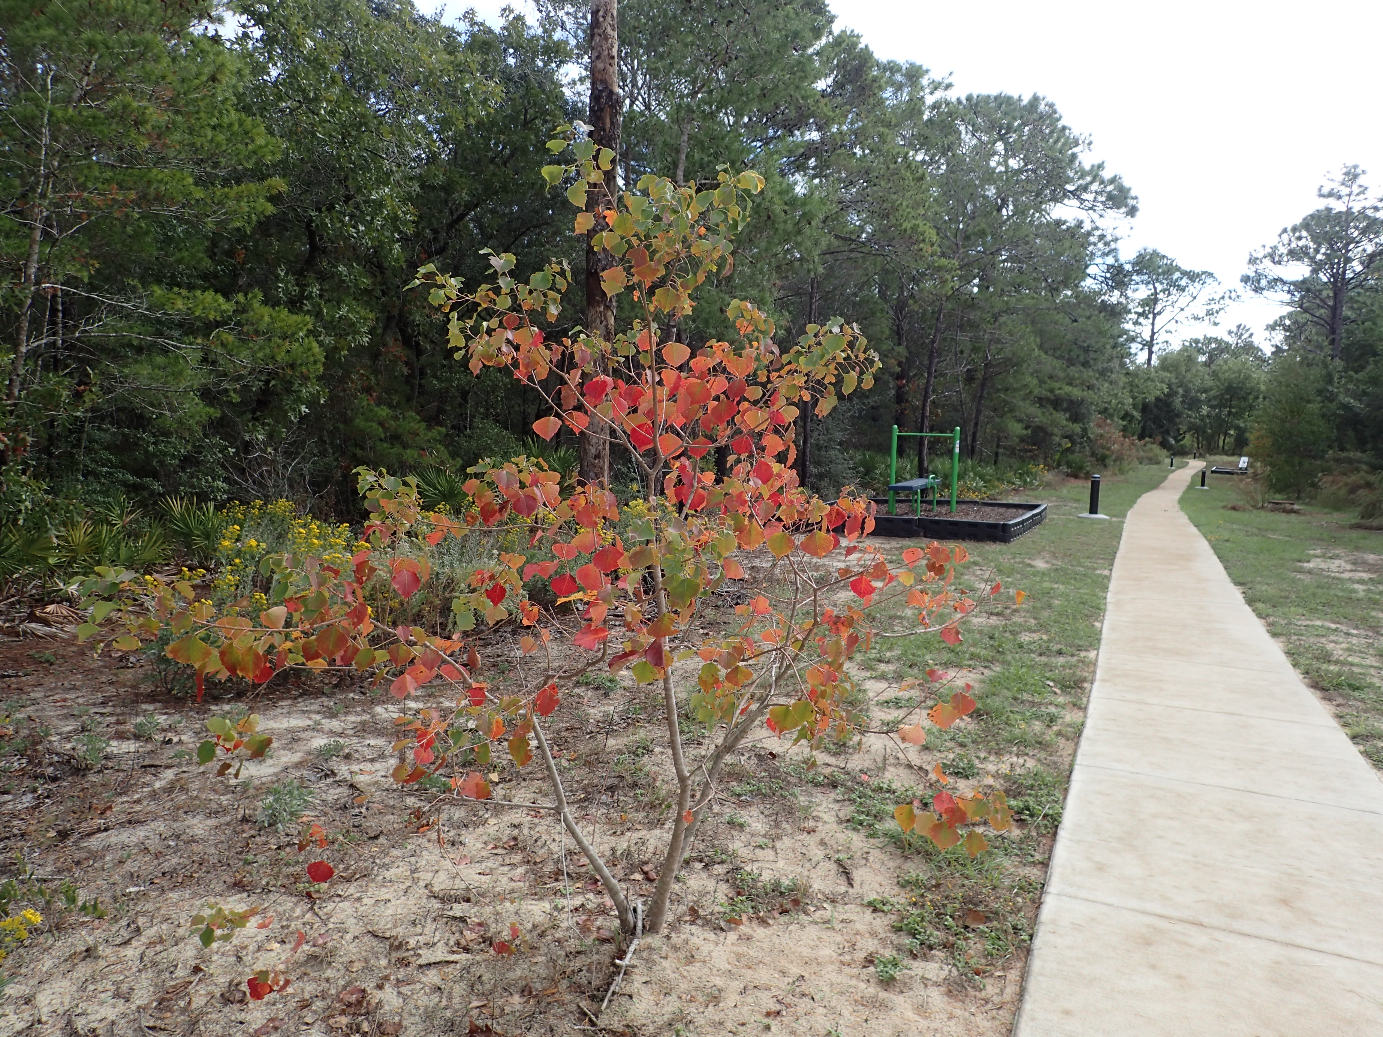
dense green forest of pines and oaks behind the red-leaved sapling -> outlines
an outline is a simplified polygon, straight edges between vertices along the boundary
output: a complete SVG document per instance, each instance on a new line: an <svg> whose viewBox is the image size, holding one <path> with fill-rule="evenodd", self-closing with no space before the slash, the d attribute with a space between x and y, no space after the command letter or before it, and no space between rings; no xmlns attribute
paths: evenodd
<svg viewBox="0 0 1383 1037"><path fill-rule="evenodd" d="M589 7L538 10L0 0L0 520L169 495L351 517L357 465L570 465L526 445L541 400L473 377L408 289L426 263L474 282L481 249L582 261L539 167L586 118ZM1383 212L1359 170L1250 259L1238 290L1283 303L1256 343L1216 324L1229 286L1120 254L1135 198L1051 102L958 97L833 22L823 0L620 4L622 183L768 178L679 335L722 336L744 297L784 339L855 321L884 358L799 422L813 488L877 485L892 424L960 427L996 478L1249 451L1279 492L1377 514Z"/></svg>

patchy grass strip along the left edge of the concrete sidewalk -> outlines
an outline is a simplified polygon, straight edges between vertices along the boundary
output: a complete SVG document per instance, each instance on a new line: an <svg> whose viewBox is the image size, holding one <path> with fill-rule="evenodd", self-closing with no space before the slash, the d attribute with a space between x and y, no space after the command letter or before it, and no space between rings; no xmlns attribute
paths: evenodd
<svg viewBox="0 0 1383 1037"><path fill-rule="evenodd" d="M874 906L896 913L895 928L910 937L914 954L945 954L963 975L1021 968L1084 722L1123 517L1167 474L1163 466L1142 466L1104 480L1101 510L1113 521L1077 517L1088 503L1086 481L1054 477L1043 489L1019 491L1017 499L1048 502L1047 520L1015 543L967 543L971 563L963 578L967 586L997 578L1005 592L1022 589L1023 606L968 624L954 647L917 636L860 657L862 676L881 684L921 678L931 666L968 671L978 709L950 730L928 729L922 766L939 762L961 790L992 780L1023 823L1017 837L993 841L975 861L958 848L938 853L925 841L910 845L914 870L899 877L904 893ZM899 552L913 543L896 541ZM916 693L875 698L875 722L892 730L904 716L916 720L904 712L910 700ZM893 806L934 791L934 783L871 781L852 794L852 821L898 841Z"/></svg>

